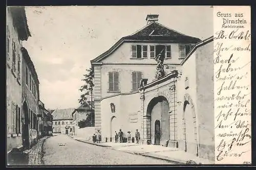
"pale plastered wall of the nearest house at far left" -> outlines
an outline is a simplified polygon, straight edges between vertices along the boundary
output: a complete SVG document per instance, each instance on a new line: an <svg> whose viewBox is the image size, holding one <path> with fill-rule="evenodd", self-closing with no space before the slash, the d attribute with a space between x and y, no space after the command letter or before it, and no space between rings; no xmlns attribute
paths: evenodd
<svg viewBox="0 0 256 170"><path fill-rule="evenodd" d="M9 55L6 54L6 117L7 117L7 151L13 148L22 146L22 134L16 134L12 131L13 116L12 116L12 102L22 110L22 53L20 47L22 46L22 41L18 38L17 29L13 26L12 15L9 10L7 10L7 27L9 29L10 41L9 41ZM12 67L12 40L16 44L16 71L13 72ZM17 56L20 56L20 79L17 75ZM9 60L8 60L9 56ZM21 122L21 119L19 120ZM20 129L22 124L20 123Z"/></svg>

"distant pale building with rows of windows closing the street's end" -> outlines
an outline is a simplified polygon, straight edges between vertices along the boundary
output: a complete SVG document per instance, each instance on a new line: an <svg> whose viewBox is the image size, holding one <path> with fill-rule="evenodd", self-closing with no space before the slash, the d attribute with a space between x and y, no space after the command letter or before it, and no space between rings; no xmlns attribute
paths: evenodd
<svg viewBox="0 0 256 170"><path fill-rule="evenodd" d="M53 133L69 134L72 132L72 113L74 108L56 109L52 112L53 115Z"/></svg>

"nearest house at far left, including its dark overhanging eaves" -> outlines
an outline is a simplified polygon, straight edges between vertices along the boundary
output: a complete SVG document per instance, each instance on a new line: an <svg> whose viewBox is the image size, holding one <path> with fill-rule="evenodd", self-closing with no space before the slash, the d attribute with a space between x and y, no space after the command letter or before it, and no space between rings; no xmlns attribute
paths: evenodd
<svg viewBox="0 0 256 170"><path fill-rule="evenodd" d="M24 7L8 7L6 22L6 117L7 151L23 148L22 41L30 35Z"/></svg>

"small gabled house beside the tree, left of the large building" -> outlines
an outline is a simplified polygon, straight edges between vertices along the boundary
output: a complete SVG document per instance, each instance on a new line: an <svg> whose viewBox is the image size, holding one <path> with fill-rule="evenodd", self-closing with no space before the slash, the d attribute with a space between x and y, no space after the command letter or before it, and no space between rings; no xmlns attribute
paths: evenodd
<svg viewBox="0 0 256 170"><path fill-rule="evenodd" d="M91 102L90 102L91 103ZM90 122L90 125L88 126L94 126L94 108L86 102L83 106L79 106L77 109L75 109L72 113L73 117L73 122L72 122L72 127L73 127L73 134L76 135L76 131L79 128L78 127L78 122L83 119L87 119L88 115L92 112L92 120Z"/></svg>

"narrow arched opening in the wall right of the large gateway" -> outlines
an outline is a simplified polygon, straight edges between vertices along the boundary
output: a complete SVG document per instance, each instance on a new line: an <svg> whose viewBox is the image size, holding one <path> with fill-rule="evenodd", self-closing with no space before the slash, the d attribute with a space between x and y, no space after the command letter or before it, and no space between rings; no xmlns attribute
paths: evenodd
<svg viewBox="0 0 256 170"><path fill-rule="evenodd" d="M183 129L185 152L198 156L197 118L194 103L189 94L184 95Z"/></svg>

